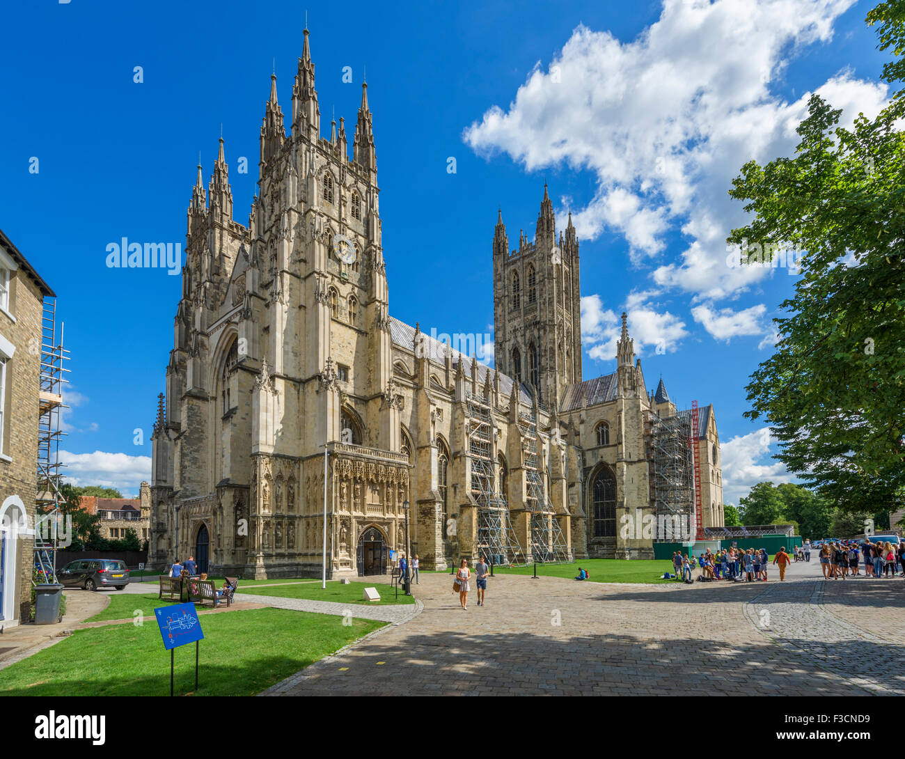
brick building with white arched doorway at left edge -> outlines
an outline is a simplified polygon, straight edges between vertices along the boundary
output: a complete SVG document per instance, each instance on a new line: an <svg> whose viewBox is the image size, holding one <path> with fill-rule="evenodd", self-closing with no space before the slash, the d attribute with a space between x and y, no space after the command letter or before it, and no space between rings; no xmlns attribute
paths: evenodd
<svg viewBox="0 0 905 759"><path fill-rule="evenodd" d="M52 290L0 232L0 625L29 618L38 462L39 373L44 296Z"/></svg>

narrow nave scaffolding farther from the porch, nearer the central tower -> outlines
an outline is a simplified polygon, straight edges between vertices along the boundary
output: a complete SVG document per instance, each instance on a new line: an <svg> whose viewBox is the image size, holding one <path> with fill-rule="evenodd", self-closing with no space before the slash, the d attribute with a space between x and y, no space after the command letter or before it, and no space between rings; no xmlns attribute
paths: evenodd
<svg viewBox="0 0 905 759"><path fill-rule="evenodd" d="M525 467L526 506L531 519L532 561L564 564L575 561L566 538L559 528L556 508L547 497L538 458L538 422L535 412L519 413L522 436L522 456Z"/></svg>

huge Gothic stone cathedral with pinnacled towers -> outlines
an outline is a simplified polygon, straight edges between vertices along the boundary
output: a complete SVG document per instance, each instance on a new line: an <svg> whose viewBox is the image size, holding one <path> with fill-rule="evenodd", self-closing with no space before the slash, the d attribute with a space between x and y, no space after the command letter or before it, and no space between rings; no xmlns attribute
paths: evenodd
<svg viewBox="0 0 905 759"><path fill-rule="evenodd" d="M453 350L391 315L367 84L349 146L344 119L321 137L314 83L306 29L289 134L271 76L247 224L233 219L223 139L206 187L197 168L148 561L194 554L203 572L264 579L319 575L324 561L332 577L382 573L406 550L424 569L481 553L653 558L656 536L623 526L671 506L654 430L691 411L662 380L647 389L624 314L614 373L583 380L571 216L557 230L545 185L534 239L510 246L498 212L495 367ZM694 418L695 515L716 527L713 408Z"/></svg>

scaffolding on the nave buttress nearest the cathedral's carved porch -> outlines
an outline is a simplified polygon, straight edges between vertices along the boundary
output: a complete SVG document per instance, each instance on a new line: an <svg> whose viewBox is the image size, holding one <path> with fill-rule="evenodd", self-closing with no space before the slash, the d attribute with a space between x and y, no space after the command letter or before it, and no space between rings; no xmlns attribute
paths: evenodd
<svg viewBox="0 0 905 759"><path fill-rule="evenodd" d="M492 564L524 564L509 518L509 504L496 490L491 454L495 435L491 407L487 399L466 396L470 418L469 453L472 458L472 497L477 502L478 543L476 555L483 553Z"/></svg>

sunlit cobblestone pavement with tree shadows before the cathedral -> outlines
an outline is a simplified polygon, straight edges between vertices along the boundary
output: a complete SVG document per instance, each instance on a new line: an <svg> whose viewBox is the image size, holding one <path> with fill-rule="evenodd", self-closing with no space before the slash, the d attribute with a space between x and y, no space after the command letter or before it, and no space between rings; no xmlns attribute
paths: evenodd
<svg viewBox="0 0 905 759"><path fill-rule="evenodd" d="M769 577L629 586L505 575L486 606L472 592L464 611L449 575L424 573L420 614L266 695L838 696L859 692L840 675L866 668L882 680L864 677L861 693L902 692L902 580L823 581L814 561L791 565L785 582L776 567Z"/></svg>

